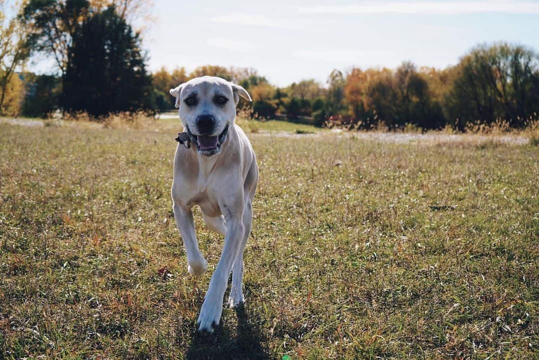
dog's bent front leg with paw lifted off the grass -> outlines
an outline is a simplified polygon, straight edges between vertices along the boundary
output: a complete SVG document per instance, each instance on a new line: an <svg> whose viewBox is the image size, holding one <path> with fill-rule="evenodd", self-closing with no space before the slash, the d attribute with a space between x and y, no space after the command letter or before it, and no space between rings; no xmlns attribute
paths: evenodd
<svg viewBox="0 0 539 360"><path fill-rule="evenodd" d="M187 271L191 275L201 275L208 269L208 262L198 249L193 213L190 209L183 209L176 203L172 206L172 210L174 210L176 226L182 235L183 246L187 254Z"/></svg>

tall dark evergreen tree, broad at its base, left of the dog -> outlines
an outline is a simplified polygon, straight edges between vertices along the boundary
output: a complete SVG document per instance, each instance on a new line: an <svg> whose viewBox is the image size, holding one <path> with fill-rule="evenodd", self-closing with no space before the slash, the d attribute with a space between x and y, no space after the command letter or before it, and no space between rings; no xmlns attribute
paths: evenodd
<svg viewBox="0 0 539 360"><path fill-rule="evenodd" d="M61 105L94 116L155 109L140 45L114 8L85 19L73 34Z"/></svg>

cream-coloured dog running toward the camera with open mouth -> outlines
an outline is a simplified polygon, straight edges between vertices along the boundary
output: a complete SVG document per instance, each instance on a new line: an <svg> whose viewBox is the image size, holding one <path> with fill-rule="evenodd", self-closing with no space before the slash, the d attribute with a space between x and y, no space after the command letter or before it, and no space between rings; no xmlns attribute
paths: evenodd
<svg viewBox="0 0 539 360"><path fill-rule="evenodd" d="M198 331L211 333L219 324L231 271L229 306L245 301L243 252L251 233L258 165L249 139L234 120L239 97L251 101L251 96L243 87L213 76L191 79L170 94L176 97L185 131L177 139L171 195L188 272L199 276L208 269L198 249L192 207L198 205L208 228L225 237L197 320Z"/></svg>

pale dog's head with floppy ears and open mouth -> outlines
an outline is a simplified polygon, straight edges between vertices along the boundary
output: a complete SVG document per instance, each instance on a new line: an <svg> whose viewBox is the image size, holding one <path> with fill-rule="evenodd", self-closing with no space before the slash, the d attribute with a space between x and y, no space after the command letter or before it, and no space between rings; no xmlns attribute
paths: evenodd
<svg viewBox="0 0 539 360"><path fill-rule="evenodd" d="M170 94L176 96L185 131L197 151L205 156L221 151L229 127L234 125L239 97L251 101L243 87L213 76L191 79L170 89Z"/></svg>

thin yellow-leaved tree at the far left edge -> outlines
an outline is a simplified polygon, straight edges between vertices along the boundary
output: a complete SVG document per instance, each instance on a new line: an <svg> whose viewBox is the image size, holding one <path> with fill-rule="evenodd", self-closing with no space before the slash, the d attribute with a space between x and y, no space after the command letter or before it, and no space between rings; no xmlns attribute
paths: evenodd
<svg viewBox="0 0 539 360"><path fill-rule="evenodd" d="M6 18L5 6L5 1L0 0L0 114L13 115L18 112L23 89L20 80L13 75L29 57L30 44L27 29L18 14L20 4L15 4L16 16L11 19Z"/></svg>

